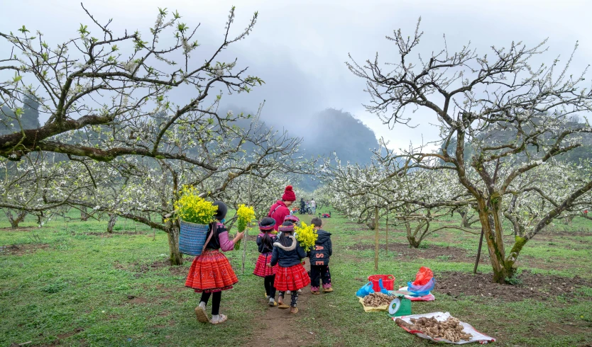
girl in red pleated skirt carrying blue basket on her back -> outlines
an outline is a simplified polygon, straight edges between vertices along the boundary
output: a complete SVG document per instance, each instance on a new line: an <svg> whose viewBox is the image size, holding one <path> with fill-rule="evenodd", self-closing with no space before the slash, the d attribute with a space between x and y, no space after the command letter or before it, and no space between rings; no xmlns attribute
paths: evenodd
<svg viewBox="0 0 592 347"><path fill-rule="evenodd" d="M231 251L234 249L234 244L243 238L244 233L239 232L233 240L229 240L228 230L223 224L228 208L221 201L215 201L214 205L218 206L216 222L210 224L207 235L209 241L204 246L202 254L196 256L191 264L185 286L202 293L199 305L195 307L197 320L202 323L219 324L228 319L226 315L219 313L222 290L232 289L232 286L239 282L228 258L221 254L219 249L225 252ZM208 319L206 313L210 296L212 296L212 319Z"/></svg>

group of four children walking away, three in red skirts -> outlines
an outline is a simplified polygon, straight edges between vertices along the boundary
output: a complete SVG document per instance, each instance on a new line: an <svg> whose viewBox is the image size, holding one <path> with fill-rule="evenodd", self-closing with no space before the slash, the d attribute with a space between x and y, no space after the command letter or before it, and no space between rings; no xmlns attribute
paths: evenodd
<svg viewBox="0 0 592 347"><path fill-rule="evenodd" d="M219 313L221 292L233 288L239 280L228 258L219 250L234 249L234 244L243 238L243 233L236 234L232 240L229 239L228 230L224 226L227 207L220 201L214 202L214 205L218 206L216 222L209 227L204 251L194 259L185 286L202 293L199 305L195 307L197 320L203 323L220 324L228 319L226 315ZM322 282L323 292L333 291L329 273L329 257L333 253L331 234L321 229L320 218L313 218L311 224L317 229L318 237L315 246L307 253L294 234L295 224L300 220L294 215L283 215L283 222L278 226L278 221L274 217L277 216L270 212L270 217L265 217L259 222L261 233L258 234L257 245L260 255L253 274L263 278L268 305L277 306L280 309L289 308L290 313L295 314L298 312L298 295L302 292L302 288L310 284L312 294L318 295ZM309 273L303 266L305 258L309 258ZM275 302L276 290L279 292L278 302ZM290 305L285 304L286 295L290 295ZM206 312L210 296L212 296L212 319L208 318Z"/></svg>

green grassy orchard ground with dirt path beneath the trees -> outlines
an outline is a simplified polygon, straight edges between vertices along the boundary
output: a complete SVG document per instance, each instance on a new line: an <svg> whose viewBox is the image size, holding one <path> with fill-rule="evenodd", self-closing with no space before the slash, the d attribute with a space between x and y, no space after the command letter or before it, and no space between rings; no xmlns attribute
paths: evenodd
<svg viewBox="0 0 592 347"><path fill-rule="evenodd" d="M190 258L169 266L164 232L123 219L112 234L106 221L58 219L38 228L31 219L9 229L1 220L0 345L429 346L385 313L363 312L355 292L375 273L374 232L333 216L324 229L333 234L334 292L312 296L305 288L297 315L268 307L263 280L251 274L258 254L250 239L244 275L241 252L227 253L239 284L222 295L229 321L218 326L195 319L198 297L184 288ZM387 252L380 222L378 273L395 275L402 286L428 266L437 278L436 301L413 303L414 314L450 312L495 337L494 346L592 342L592 222L576 218L532 239L515 285L491 283L486 247L472 275L476 235L444 229L410 249L391 225Z"/></svg>

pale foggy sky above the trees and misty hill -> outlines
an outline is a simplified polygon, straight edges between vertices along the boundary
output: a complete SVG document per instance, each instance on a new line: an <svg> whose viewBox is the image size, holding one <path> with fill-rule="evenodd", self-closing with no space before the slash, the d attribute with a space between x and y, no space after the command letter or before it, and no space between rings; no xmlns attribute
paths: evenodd
<svg viewBox="0 0 592 347"><path fill-rule="evenodd" d="M592 62L591 1L84 1L95 18L105 22L113 18L115 33L140 30L149 35L158 6L178 10L183 21L197 31L202 43L196 59L212 52L224 35L224 23L231 6L236 5L234 33L246 27L254 11L259 12L253 33L224 52L224 57L239 58L239 67L266 84L249 94L224 96L224 105L256 110L265 100L263 119L288 130L302 133L315 113L325 108L350 112L376 132L390 140L390 147L407 147L412 141L437 138L436 119L428 110L413 115L409 129L403 125L389 130L376 115L366 113L362 104L368 95L364 81L353 76L344 62L348 53L362 63L378 51L381 62L398 59L393 42L385 40L401 28L412 35L417 18L422 16L424 38L420 52L429 54L443 47L446 34L449 51L471 45L484 53L491 45L508 47L512 40L529 46L549 38L549 52L541 62L561 55L565 62L579 41L572 70L579 72ZM32 33L40 30L44 40L55 47L58 42L77 35L80 23L91 21L72 0L4 0L0 3L0 31L8 32L26 25ZM121 31L119 31L121 30ZM4 42L3 42L4 43ZM6 51L6 45L0 45ZM589 80L589 79L587 79ZM410 111L410 110L409 110Z"/></svg>

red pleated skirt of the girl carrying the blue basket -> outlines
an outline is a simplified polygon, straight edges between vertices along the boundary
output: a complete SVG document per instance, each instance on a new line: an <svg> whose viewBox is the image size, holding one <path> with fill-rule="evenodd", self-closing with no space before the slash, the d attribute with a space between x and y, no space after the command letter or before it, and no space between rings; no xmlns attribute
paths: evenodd
<svg viewBox="0 0 592 347"><path fill-rule="evenodd" d="M228 258L217 249L206 249L193 260L185 287L195 292L221 292L238 282Z"/></svg>

